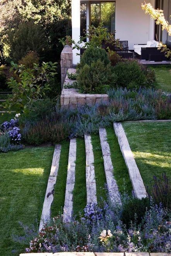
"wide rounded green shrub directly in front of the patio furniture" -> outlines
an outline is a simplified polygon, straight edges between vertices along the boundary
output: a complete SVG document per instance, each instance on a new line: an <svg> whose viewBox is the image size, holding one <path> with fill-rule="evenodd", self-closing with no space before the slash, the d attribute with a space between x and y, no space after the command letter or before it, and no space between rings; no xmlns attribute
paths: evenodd
<svg viewBox="0 0 171 256"><path fill-rule="evenodd" d="M141 86L151 87L155 82L154 71L144 68L136 60L124 60L118 62L114 67L116 73L117 86L128 89L140 88Z"/></svg>

